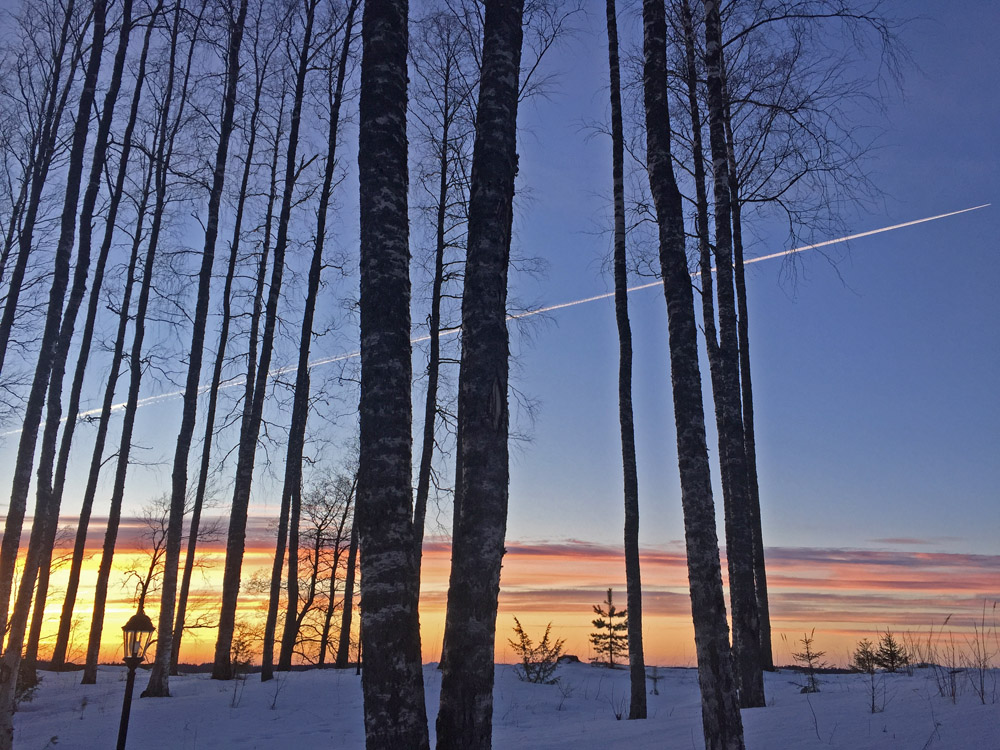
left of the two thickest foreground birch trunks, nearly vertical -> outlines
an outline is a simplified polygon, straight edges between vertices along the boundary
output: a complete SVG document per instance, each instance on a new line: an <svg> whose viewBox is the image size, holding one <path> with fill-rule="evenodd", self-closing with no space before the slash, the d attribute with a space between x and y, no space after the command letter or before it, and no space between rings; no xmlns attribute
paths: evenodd
<svg viewBox="0 0 1000 750"><path fill-rule="evenodd" d="M361 401L355 524L368 747L427 750L417 611L407 217L407 0L368 0L361 26Z"/></svg>

